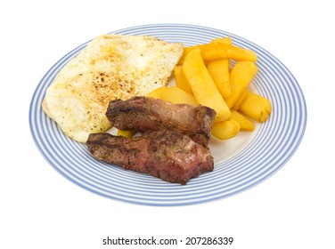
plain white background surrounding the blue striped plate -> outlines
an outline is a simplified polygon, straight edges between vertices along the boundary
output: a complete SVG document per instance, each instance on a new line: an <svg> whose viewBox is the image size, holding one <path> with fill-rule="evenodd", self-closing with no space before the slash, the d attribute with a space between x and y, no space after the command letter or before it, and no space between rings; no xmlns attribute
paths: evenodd
<svg viewBox="0 0 335 249"><path fill-rule="evenodd" d="M37 150L29 102L57 60L94 36L166 22L246 38L298 80L308 111L304 139L256 187L202 205L129 205L81 189ZM234 238L230 246L157 248L335 248L333 23L331 1L322 0L2 1L0 247L136 248L103 246L102 239L153 236Z"/></svg>

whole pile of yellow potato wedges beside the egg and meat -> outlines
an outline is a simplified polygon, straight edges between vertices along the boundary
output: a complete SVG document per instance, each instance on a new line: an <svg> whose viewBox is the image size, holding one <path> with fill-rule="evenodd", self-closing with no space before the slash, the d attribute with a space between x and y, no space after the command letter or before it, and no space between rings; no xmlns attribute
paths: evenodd
<svg viewBox="0 0 335 249"><path fill-rule="evenodd" d="M255 52L233 45L230 37L185 47L174 69L176 86L159 87L147 97L215 109L212 135L228 140L253 131L254 122L266 122L271 114L270 100L248 88L257 75L256 61ZM118 134L131 135L127 133Z"/></svg>

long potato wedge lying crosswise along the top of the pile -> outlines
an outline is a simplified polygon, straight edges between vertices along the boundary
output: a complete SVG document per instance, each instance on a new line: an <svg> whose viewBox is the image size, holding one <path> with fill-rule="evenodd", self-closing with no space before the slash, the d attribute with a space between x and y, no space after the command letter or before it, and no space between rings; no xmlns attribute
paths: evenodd
<svg viewBox="0 0 335 249"><path fill-rule="evenodd" d="M182 58L179 60L178 65L182 65L189 52L193 49L199 48L201 56L205 63L211 60L233 59L233 60L249 60L255 62L257 60L256 52L244 49L233 44L225 43L210 43L200 44L184 48Z"/></svg>

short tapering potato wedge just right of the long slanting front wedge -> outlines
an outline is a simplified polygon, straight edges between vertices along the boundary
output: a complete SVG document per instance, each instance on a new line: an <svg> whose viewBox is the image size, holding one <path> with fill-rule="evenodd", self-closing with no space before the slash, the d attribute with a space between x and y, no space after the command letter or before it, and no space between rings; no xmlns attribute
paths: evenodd
<svg viewBox="0 0 335 249"><path fill-rule="evenodd" d="M231 95L230 76L229 76L229 60L213 60L207 65L209 75L217 85L218 91L222 97L228 98Z"/></svg>

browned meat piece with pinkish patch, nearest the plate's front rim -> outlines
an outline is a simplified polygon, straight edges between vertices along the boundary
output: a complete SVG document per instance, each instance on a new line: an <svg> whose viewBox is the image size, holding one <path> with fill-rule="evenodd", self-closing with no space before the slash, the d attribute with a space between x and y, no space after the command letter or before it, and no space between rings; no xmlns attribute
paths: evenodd
<svg viewBox="0 0 335 249"><path fill-rule="evenodd" d="M87 146L94 157L104 162L181 184L213 171L214 166L208 148L171 130L146 132L130 139L93 133Z"/></svg>

